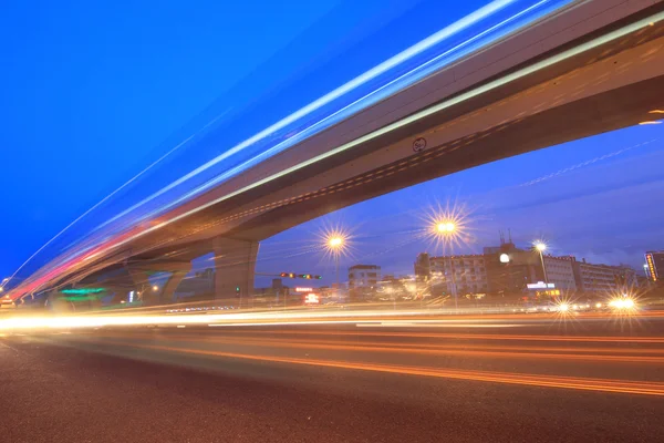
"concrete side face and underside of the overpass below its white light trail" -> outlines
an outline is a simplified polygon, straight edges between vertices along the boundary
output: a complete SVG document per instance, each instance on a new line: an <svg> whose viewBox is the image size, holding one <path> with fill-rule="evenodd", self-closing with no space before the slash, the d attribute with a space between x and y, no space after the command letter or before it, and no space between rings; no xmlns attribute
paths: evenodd
<svg viewBox="0 0 664 443"><path fill-rule="evenodd" d="M219 202L137 244L149 248L159 238L170 245L166 251L216 236L260 241L393 190L653 120L650 112L664 107L664 27L646 32ZM419 137L427 147L414 153Z"/></svg>

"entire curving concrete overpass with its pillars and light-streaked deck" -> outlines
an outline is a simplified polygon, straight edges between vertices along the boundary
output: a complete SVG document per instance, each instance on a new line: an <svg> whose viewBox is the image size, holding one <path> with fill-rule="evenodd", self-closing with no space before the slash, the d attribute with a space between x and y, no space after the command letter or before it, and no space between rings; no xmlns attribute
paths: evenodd
<svg viewBox="0 0 664 443"><path fill-rule="evenodd" d="M664 3L578 1L52 271L170 271L214 253L216 291L248 293L259 243L342 207L496 159L655 120ZM179 264L179 265L176 265ZM13 296L30 293L24 286Z"/></svg>

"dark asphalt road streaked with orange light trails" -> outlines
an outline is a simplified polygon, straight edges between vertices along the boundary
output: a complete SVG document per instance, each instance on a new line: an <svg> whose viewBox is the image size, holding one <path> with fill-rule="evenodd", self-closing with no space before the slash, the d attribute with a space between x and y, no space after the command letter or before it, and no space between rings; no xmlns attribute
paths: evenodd
<svg viewBox="0 0 664 443"><path fill-rule="evenodd" d="M664 320L0 338L1 442L660 442Z"/></svg>

